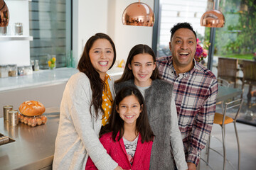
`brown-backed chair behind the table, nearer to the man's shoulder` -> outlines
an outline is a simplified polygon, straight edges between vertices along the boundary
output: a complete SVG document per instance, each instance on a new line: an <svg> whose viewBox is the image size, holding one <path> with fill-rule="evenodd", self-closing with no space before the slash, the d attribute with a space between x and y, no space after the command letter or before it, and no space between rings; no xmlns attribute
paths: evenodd
<svg viewBox="0 0 256 170"><path fill-rule="evenodd" d="M236 87L238 71L238 59L218 57L218 78L233 81Z"/></svg>

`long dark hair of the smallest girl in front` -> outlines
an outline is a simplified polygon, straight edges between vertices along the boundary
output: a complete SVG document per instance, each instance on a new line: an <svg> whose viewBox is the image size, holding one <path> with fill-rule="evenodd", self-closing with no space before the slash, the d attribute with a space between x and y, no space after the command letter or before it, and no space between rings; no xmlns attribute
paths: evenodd
<svg viewBox="0 0 256 170"><path fill-rule="evenodd" d="M112 139L114 142L119 132L118 140L120 140L124 135L124 120L117 113L116 108L119 106L119 103L126 97L134 95L138 101L139 105L142 107L142 112L139 114L139 117L136 120L137 131L142 136L142 143L144 141L149 142L153 141L154 133L150 128L148 115L146 113L146 102L140 91L135 86L126 86L117 93L116 98L114 98L114 104L112 107L112 113L110 115L110 123L105 125L100 130L100 137L107 132L112 132Z"/></svg>

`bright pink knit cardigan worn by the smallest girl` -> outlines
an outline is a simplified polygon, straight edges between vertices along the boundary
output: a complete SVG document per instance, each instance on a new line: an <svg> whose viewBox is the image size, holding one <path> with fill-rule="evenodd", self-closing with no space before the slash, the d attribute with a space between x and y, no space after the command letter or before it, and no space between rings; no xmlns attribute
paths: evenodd
<svg viewBox="0 0 256 170"><path fill-rule="evenodd" d="M118 136L119 133L117 134L117 137ZM109 132L100 137L100 142L102 143L103 147L105 147L105 149L107 150L107 154L110 154L110 157L112 157L112 159L115 162L117 162L117 164L121 166L122 169L149 169L150 154L153 142L144 142L142 144L142 137L140 134L132 165L129 163L127 152L124 147L124 141L122 140L122 138L121 140L114 142L112 140L112 132ZM93 164L92 159L90 159L90 157L87 159L87 164L85 166L85 170L87 169L97 169L95 164Z"/></svg>

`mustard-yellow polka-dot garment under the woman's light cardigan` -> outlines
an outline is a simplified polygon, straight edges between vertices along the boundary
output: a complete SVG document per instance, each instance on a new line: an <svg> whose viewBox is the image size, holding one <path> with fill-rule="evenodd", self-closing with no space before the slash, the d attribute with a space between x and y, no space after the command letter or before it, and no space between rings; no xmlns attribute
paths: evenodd
<svg viewBox="0 0 256 170"><path fill-rule="evenodd" d="M105 117L102 116L102 125L105 126L108 122L108 118L110 118L110 114L112 111L112 102L113 98L110 91L110 84L108 84L108 79L110 79L110 76L106 74L105 76L105 89L102 91L102 108L105 111Z"/></svg>

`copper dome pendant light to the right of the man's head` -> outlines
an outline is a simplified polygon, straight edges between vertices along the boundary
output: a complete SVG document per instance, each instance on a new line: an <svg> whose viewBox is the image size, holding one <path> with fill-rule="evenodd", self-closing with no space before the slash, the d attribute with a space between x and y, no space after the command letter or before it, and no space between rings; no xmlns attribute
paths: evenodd
<svg viewBox="0 0 256 170"><path fill-rule="evenodd" d="M213 10L206 11L201 17L201 26L221 28L225 24L223 13L215 9L215 1L213 0Z"/></svg>

